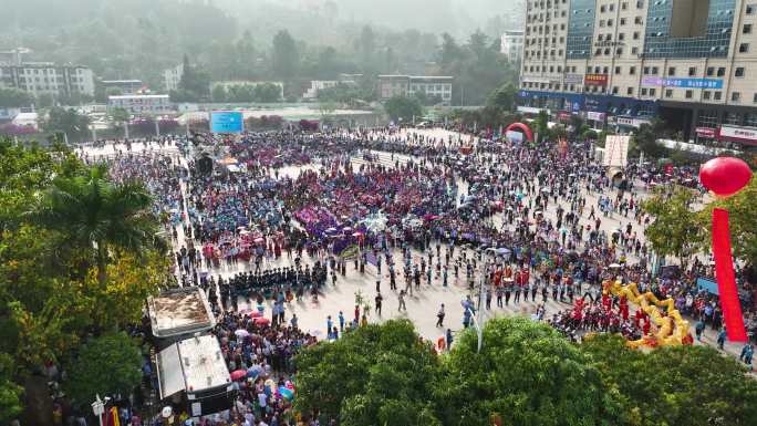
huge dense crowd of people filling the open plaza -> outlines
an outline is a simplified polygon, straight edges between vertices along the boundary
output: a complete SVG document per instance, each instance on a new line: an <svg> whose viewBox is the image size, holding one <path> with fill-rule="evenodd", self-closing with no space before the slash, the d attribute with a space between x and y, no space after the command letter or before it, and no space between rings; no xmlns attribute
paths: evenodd
<svg viewBox="0 0 757 426"><path fill-rule="evenodd" d="M717 295L695 284L709 267L697 260L677 274L653 277L643 238L650 220L641 207L644 189L683 181L687 169L671 177L655 165L634 164L619 183L597 164L589 143L535 149L395 128L203 135L156 147L166 145L179 154L127 150L107 160L116 179L142 179L156 195L156 212L176 247L178 282L208 292L229 370L258 372L239 384L234 409L208 425L286 424L288 402L266 383L286 385L295 371L292 355L317 340L295 315L286 318L288 303L323 297L353 262L359 273L375 271L371 299L378 314L387 292L406 311L414 291L457 284L483 294L480 309L530 303L535 319L571 339L649 334L649 319L602 294L601 282L612 278L673 298L683 314L722 329ZM217 157L232 157L236 167L219 162L203 172L201 152L221 152ZM253 312L242 312L245 300ZM550 300L559 308L548 312ZM262 313L267 301L271 322L260 325L255 311ZM478 308L469 300L464 308L460 322L469 326ZM334 312L339 326L328 318L324 337L339 339L345 322L348 329L364 323L367 312L360 309L354 321ZM445 306L429 312L448 347ZM754 336L751 305L746 314ZM750 362L746 346L742 355Z"/></svg>

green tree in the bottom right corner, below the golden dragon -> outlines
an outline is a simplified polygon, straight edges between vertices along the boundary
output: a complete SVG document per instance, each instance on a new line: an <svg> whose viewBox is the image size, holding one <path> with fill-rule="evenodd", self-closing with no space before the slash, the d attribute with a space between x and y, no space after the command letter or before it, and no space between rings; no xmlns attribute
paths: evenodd
<svg viewBox="0 0 757 426"><path fill-rule="evenodd" d="M754 425L757 382L707 345L631 350L615 335L584 340L581 352L622 406L618 425Z"/></svg>

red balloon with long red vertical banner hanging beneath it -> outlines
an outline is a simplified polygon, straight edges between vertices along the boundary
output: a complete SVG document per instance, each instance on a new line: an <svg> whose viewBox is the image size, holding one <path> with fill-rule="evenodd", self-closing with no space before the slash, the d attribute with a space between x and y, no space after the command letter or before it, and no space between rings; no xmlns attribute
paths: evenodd
<svg viewBox="0 0 757 426"><path fill-rule="evenodd" d="M717 197L729 197L744 188L751 179L749 166L738 158L718 157L702 165L699 179L705 188ZM734 259L730 254L730 231L728 211L713 209L713 256L715 274L720 293L720 308L725 320L726 333L732 342L746 342L746 329L738 289L734 277Z"/></svg>

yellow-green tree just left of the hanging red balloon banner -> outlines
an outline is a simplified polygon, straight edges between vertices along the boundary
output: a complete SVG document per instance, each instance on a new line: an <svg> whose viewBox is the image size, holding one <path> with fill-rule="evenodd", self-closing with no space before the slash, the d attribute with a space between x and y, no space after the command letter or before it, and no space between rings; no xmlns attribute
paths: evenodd
<svg viewBox="0 0 757 426"><path fill-rule="evenodd" d="M675 256L687 263L704 243L705 228L702 214L693 209L696 195L684 187L655 189L642 202L642 208L654 219L644 235L660 256Z"/></svg>

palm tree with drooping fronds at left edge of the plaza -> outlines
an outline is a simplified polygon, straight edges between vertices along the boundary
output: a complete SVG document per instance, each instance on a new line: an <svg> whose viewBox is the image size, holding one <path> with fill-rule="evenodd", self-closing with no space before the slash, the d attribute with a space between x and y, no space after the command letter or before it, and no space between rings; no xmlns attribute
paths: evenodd
<svg viewBox="0 0 757 426"><path fill-rule="evenodd" d="M155 243L157 221L152 205L144 185L114 184L108 180L107 167L97 165L79 176L53 180L28 217L38 226L62 232L70 247L91 250L97 281L105 285L110 248L139 253Z"/></svg>

